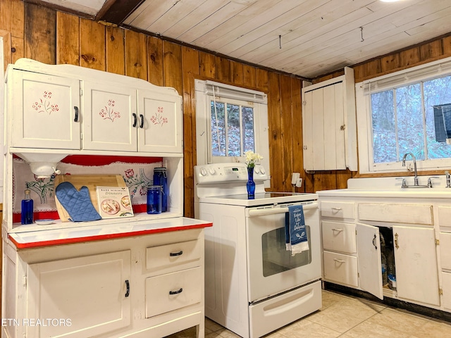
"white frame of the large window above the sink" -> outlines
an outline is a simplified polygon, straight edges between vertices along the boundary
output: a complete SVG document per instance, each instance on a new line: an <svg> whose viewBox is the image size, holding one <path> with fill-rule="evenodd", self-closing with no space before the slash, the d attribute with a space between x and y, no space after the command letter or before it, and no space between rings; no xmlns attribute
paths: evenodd
<svg viewBox="0 0 451 338"><path fill-rule="evenodd" d="M451 76L451 58L443 58L355 84L360 174L399 173L406 170L406 167L402 167L402 161L373 163L371 94L444 76ZM451 168L451 158L417 159L416 167L418 172L448 170Z"/></svg>

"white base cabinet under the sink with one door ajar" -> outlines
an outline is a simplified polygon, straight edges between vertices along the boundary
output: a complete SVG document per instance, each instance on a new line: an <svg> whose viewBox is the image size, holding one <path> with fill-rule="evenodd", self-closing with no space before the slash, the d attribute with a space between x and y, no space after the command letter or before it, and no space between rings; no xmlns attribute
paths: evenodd
<svg viewBox="0 0 451 338"><path fill-rule="evenodd" d="M380 299L390 296L440 308L433 204L424 200L414 204L412 200L388 203L386 199L326 198L321 197L321 192L319 196L325 281L362 289ZM385 236L382 243L380 232ZM442 266L450 269L441 275L442 305L448 309L451 308L451 233L449 235L444 240L448 239L450 250L440 245ZM395 263L396 287L393 289L389 289L388 284L383 285L381 249L387 252L384 242L393 245L390 251Z"/></svg>

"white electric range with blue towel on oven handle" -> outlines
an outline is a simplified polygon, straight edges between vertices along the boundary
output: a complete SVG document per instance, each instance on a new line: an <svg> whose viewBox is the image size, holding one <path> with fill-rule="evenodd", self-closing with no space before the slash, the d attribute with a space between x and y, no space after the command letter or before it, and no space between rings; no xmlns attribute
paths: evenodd
<svg viewBox="0 0 451 338"><path fill-rule="evenodd" d="M265 192L254 168L248 199L245 163L194 167L205 230L205 314L244 338L261 337L321 308L321 244L316 194ZM309 251L285 249L285 213L302 204Z"/></svg>

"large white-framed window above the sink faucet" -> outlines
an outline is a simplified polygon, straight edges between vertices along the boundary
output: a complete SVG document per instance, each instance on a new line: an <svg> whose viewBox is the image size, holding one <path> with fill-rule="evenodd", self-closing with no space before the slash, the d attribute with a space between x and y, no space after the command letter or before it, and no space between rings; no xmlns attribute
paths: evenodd
<svg viewBox="0 0 451 338"><path fill-rule="evenodd" d="M443 123L451 111L451 58L357 83L356 99L360 173L404 171L406 153L419 170L451 167Z"/></svg>

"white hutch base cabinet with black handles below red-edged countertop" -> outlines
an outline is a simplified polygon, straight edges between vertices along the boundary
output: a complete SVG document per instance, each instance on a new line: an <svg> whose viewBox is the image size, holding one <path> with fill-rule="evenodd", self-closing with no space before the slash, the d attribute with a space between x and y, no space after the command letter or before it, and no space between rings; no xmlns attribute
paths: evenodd
<svg viewBox="0 0 451 338"><path fill-rule="evenodd" d="M204 337L204 230L17 249L4 239L3 338Z"/></svg>

